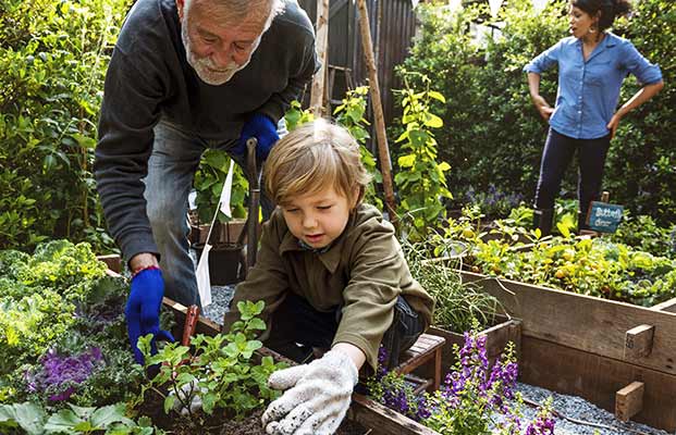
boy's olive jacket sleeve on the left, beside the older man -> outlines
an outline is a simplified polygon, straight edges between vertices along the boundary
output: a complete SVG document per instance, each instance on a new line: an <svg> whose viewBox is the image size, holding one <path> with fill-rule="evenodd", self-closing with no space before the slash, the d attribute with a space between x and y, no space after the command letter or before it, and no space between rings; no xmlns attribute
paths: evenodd
<svg viewBox="0 0 676 435"><path fill-rule="evenodd" d="M268 324L268 331L270 330L270 314L282 303L288 289L287 272L280 254L283 239L283 225L280 225L280 220L282 216L275 212L263 224L256 265L249 270L246 279L235 287L230 311L223 318L223 331L229 331L239 320L237 303L245 300L262 300L266 303L260 318Z"/></svg>

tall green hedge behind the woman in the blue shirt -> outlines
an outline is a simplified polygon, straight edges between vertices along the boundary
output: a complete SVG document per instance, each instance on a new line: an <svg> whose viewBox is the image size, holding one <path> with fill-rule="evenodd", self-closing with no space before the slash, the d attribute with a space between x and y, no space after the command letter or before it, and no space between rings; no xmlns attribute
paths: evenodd
<svg viewBox="0 0 676 435"><path fill-rule="evenodd" d="M406 60L408 71L428 75L431 88L446 97L433 113L444 121L435 134L440 160L446 161L448 188L462 200L469 186L499 188L532 199L539 174L546 124L532 107L523 66L567 36L566 1L552 0L539 15L530 0L506 0L496 18L487 5L472 4L453 13L447 2L421 5L421 37ZM673 123L676 78L676 3L637 0L630 21L616 22L615 33L630 39L651 62L660 64L665 88L626 116L613 139L603 188L611 199L635 213L662 222L676 217L676 149ZM502 37L487 42L470 34L471 23L495 24ZM500 22L504 24L499 24ZM497 35L497 34L496 34ZM541 94L550 103L556 96L557 71L542 78ZM639 89L630 76L620 102ZM569 167L563 189L575 196L576 171Z"/></svg>

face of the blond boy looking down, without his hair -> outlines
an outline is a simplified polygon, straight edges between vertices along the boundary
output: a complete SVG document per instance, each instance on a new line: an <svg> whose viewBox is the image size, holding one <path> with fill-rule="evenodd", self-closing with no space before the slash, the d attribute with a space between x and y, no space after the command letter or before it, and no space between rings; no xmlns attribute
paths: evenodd
<svg viewBox="0 0 676 435"><path fill-rule="evenodd" d="M343 233L354 207L346 196L328 187L294 198L282 207L282 213L294 236L312 248L323 248Z"/></svg>

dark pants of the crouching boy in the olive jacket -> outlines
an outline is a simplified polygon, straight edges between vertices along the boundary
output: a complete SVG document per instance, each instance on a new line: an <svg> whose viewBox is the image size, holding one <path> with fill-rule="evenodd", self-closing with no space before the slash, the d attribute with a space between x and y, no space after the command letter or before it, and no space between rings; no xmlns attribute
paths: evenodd
<svg viewBox="0 0 676 435"><path fill-rule="evenodd" d="M341 318L342 307L317 311L305 298L290 291L272 314L272 328L265 346L296 362L307 362L312 359L312 348L331 348ZM397 364L400 355L416 343L423 328L422 316L400 296L392 325L382 338L389 369Z"/></svg>

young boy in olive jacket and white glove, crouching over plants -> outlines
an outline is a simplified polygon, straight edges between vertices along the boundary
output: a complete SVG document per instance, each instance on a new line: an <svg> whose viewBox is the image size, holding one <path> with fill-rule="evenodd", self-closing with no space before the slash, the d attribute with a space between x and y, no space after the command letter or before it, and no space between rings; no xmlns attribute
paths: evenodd
<svg viewBox="0 0 676 435"><path fill-rule="evenodd" d="M269 384L286 393L262 415L269 434L332 434L349 407L358 371L388 366L431 322L433 300L410 276L394 228L361 203L369 175L349 133L327 121L281 139L265 166L278 204L263 226L256 266L235 290L263 300L265 345L309 364L279 371ZM238 320L225 314L224 328Z"/></svg>

